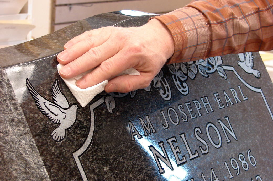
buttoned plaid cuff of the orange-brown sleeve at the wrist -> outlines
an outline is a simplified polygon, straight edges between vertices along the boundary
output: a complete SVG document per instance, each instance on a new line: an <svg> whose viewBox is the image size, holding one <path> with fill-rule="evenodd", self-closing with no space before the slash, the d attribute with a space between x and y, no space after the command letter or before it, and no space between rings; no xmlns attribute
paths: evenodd
<svg viewBox="0 0 273 181"><path fill-rule="evenodd" d="M164 23L173 36L174 54L167 64L205 57L209 47L209 30L204 16L198 10L184 7L152 18Z"/></svg>

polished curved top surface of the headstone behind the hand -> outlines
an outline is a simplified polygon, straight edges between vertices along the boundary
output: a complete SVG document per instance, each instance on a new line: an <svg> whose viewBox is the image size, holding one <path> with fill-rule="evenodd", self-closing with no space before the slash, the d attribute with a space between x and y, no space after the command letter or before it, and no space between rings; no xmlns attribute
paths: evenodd
<svg viewBox="0 0 273 181"><path fill-rule="evenodd" d="M58 54L63 50L63 46L67 41L85 31L104 26L117 26L122 22L123 25L121 26L124 26L124 22L127 20L135 20L135 22L137 22L140 18L147 23L150 17L156 16L156 14L140 11L132 11L132 14L130 14L129 11L130 10L114 11L91 16L43 37L2 48L0 49L0 66L10 67ZM134 21L131 21L131 24L132 22ZM132 24L132 26L135 25Z"/></svg>

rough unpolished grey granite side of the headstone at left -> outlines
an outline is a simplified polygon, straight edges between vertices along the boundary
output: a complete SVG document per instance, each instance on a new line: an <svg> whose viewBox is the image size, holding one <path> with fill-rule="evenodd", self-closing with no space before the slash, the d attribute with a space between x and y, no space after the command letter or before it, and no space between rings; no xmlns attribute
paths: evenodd
<svg viewBox="0 0 273 181"><path fill-rule="evenodd" d="M1 180L50 180L4 69L0 69Z"/></svg>

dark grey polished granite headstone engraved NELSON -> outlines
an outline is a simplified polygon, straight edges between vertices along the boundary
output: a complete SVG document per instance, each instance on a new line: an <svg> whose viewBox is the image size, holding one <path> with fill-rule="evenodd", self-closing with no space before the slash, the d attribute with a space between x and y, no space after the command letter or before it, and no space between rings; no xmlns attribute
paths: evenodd
<svg viewBox="0 0 273 181"><path fill-rule="evenodd" d="M17 45L22 59L16 46L0 50L15 58L1 62L6 180L271 180L273 86L259 53L166 65L146 89L102 92L79 106L57 73L63 44L88 29L149 17L94 16ZM59 106L72 125L60 138L63 123L50 121Z"/></svg>

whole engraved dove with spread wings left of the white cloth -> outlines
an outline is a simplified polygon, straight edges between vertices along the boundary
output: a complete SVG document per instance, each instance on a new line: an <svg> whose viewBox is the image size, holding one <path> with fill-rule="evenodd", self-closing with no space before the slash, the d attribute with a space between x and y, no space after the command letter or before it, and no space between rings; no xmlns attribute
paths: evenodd
<svg viewBox="0 0 273 181"><path fill-rule="evenodd" d="M60 90L58 79L52 85L51 95L53 102L41 96L28 79L26 79L26 87L41 113L48 117L52 123L59 124L51 132L52 139L57 142L63 141L66 138L66 129L71 128L77 120L78 105L72 104L69 106L66 96Z"/></svg>

